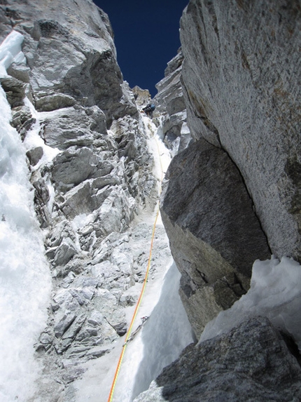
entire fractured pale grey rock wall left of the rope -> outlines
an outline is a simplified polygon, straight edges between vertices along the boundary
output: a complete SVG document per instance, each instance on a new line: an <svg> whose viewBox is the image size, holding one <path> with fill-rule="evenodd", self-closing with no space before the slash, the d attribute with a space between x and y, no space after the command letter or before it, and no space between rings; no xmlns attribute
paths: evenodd
<svg viewBox="0 0 301 402"><path fill-rule="evenodd" d="M139 213L153 213L158 199L151 131L137 108L148 96L135 100L123 81L109 18L92 1L8 0L0 18L2 40L12 29L24 36L26 62L0 80L27 151L52 276L31 400L73 401L83 364L127 332L132 288L144 281L153 227ZM154 244L151 276L171 261L162 227Z"/></svg>

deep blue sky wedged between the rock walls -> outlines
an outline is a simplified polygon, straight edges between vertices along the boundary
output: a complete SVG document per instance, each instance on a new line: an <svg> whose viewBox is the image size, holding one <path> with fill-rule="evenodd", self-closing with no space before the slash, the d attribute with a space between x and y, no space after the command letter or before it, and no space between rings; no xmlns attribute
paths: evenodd
<svg viewBox="0 0 301 402"><path fill-rule="evenodd" d="M123 78L155 96L155 84L181 46L179 22L188 0L93 1L109 15Z"/></svg>

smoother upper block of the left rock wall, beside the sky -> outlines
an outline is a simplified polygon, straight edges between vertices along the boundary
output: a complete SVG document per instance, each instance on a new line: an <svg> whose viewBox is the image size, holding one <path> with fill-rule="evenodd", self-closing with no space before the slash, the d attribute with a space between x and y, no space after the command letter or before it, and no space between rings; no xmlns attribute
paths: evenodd
<svg viewBox="0 0 301 402"><path fill-rule="evenodd" d="M6 1L1 15L2 36L11 26L25 34L22 50L37 110L97 105L108 125L125 114L137 117L116 62L109 18L92 1ZM20 78L21 72L13 66L10 74Z"/></svg>

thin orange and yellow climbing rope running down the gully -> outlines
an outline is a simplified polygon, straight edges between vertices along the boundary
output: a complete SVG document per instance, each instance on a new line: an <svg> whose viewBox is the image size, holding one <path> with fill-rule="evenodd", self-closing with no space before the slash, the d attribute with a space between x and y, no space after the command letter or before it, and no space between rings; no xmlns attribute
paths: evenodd
<svg viewBox="0 0 301 402"><path fill-rule="evenodd" d="M155 142L157 143L157 147L158 147L158 155L159 155L160 167L161 167L161 180L160 180L160 183L162 183L163 168L162 168L162 161L161 161L161 156L160 156L159 144L158 144L158 141L157 141L156 138L155 138ZM160 184L159 196L160 196L160 193L161 193L161 184ZM157 213L155 215L155 222L153 224L153 233L152 233L152 236L151 236L151 247L150 247L150 252L149 252L149 255L148 255L148 265L147 265L147 268L146 268L146 274L144 276L144 283L143 283L143 286L141 288L141 292L140 292L139 299L138 299L138 302L137 302L135 310L134 310L134 314L132 316L132 321L130 323L129 330L127 331L127 336L125 337L125 343L123 344L123 350L121 351L121 354L120 354L120 357L119 357L119 360L118 360L118 364L117 364L115 375L114 375L114 378L113 378L113 383L112 383L112 386L111 386L111 391L110 391L110 394L109 394L108 402L113 401L113 394L114 394L114 390L115 390L115 387L116 387L116 381L117 381L118 374L119 374L119 371L120 371L120 366L121 366L121 363L123 362L123 356L125 355L125 349L127 348L127 344L128 344L128 341L129 341L131 333L132 333L132 328L133 328L133 325L134 325L134 321L136 319L136 316L137 316L137 313L138 313L138 310L139 310L139 307L140 307L140 304L141 304L141 300L142 300L142 297L144 295L144 290L146 289L146 282L148 280L148 273L149 273L149 270L151 268L151 255L152 255L152 251L153 251L153 241L154 241L154 238L155 238L155 227L157 225L159 213L160 213L160 210L159 210L159 202L158 202L158 210L157 210Z"/></svg>

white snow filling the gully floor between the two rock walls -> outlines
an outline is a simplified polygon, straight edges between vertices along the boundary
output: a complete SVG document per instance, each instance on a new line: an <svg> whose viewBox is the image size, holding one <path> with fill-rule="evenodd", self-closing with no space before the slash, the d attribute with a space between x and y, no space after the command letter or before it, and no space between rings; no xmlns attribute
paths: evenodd
<svg viewBox="0 0 301 402"><path fill-rule="evenodd" d="M170 161L169 150L160 138L160 126L146 116L141 116L140 126L144 130L148 145L155 160L155 176L158 177L158 193L162 177ZM143 216L145 222L155 221L158 205L153 213ZM156 224L155 239L165 238L164 227L160 218ZM149 239L151 247L151 239ZM176 265L169 258L169 264L161 271L156 269L156 262L151 261L151 275L146 283L144 297L141 300L137 318L134 321L133 333L142 321L141 317L148 316L141 330L133 340L126 345L123 361L120 365L116 384L111 389L118 359L123 352L125 335L116 341L110 354L97 361L87 363L87 371L82 379L74 382L76 402L132 402L142 391L148 389L151 381L159 375L162 368L172 363L190 342L193 342L193 333L179 296L179 281L181 274ZM134 292L140 292L141 284L135 286ZM127 323L130 326L134 308L127 309ZM110 395L111 389L111 398ZM113 392L112 392L113 391ZM109 399L108 399L109 398Z"/></svg>

